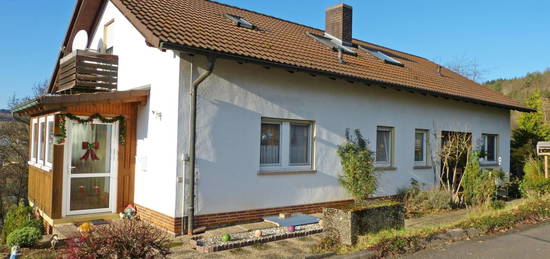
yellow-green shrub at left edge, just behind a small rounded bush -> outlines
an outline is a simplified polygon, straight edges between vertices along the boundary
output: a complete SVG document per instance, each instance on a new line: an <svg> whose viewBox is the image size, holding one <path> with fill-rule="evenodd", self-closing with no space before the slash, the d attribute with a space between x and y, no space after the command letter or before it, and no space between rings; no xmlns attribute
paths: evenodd
<svg viewBox="0 0 550 259"><path fill-rule="evenodd" d="M6 241L9 234L23 227L34 227L42 233L43 226L40 220L33 218L32 207L27 206L21 201L18 205L9 208L4 218L4 227L2 229L2 240Z"/></svg>

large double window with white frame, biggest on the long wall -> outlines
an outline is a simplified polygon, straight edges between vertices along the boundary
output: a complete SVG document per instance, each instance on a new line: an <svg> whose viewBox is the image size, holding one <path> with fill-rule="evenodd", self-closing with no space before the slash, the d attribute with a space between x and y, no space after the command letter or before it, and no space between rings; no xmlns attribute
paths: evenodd
<svg viewBox="0 0 550 259"><path fill-rule="evenodd" d="M262 171L311 169L312 123L262 120L260 167Z"/></svg>

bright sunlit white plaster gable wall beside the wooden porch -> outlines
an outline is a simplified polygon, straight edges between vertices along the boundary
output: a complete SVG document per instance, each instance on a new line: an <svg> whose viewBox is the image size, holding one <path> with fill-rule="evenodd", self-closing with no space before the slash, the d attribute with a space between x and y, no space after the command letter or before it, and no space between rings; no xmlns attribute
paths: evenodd
<svg viewBox="0 0 550 259"><path fill-rule="evenodd" d="M104 25L114 19L112 42L119 57L118 90L150 89L140 107L134 201L174 216L176 210L179 57L148 47L145 38L109 2L91 39L101 46Z"/></svg>

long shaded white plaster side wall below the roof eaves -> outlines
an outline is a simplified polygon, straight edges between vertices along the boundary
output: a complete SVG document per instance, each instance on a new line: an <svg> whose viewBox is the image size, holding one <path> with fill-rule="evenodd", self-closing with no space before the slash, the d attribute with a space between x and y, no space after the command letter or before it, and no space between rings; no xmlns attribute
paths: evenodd
<svg viewBox="0 0 550 259"><path fill-rule="evenodd" d="M381 173L378 196L395 194L412 177L433 183L433 170L413 169L417 128L468 131L474 140L498 134L502 167L509 169L510 113L489 106L227 60L217 61L198 103L197 214L350 198L337 182L336 148L346 128L360 129L371 143L377 126L395 129L397 170ZM257 175L262 117L315 121L315 174Z"/></svg>

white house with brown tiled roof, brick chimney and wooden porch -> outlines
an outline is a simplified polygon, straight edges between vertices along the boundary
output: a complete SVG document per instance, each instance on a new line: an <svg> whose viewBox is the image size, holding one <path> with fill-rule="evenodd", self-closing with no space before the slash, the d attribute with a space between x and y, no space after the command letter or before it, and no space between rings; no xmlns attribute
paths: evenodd
<svg viewBox="0 0 550 259"><path fill-rule="evenodd" d="M354 39L345 4L321 30L213 1L78 0L49 94L14 111L32 117L29 199L50 226L135 204L180 234L349 202L348 128L376 152L376 196L432 186L445 132L508 170L510 110L530 111Z"/></svg>

